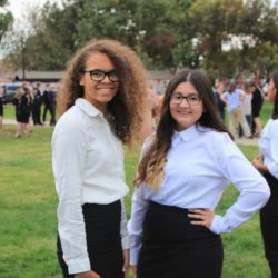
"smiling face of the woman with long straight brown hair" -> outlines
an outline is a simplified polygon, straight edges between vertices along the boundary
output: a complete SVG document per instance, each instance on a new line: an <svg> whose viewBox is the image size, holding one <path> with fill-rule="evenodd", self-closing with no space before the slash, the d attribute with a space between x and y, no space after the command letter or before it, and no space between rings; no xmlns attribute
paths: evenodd
<svg viewBox="0 0 278 278"><path fill-rule="evenodd" d="M188 97L191 98L192 105L188 103ZM198 102L196 98L199 98L199 93L188 81L179 83L173 90L170 99L170 113L176 121L177 131L190 128L202 116L202 100L200 99Z"/></svg>

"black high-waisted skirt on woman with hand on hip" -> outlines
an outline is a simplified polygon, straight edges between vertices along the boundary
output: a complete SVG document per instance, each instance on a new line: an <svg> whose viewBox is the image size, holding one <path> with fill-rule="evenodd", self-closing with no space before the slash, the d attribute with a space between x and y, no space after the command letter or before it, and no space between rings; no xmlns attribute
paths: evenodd
<svg viewBox="0 0 278 278"><path fill-rule="evenodd" d="M138 278L220 278L222 260L219 235L191 225L187 209L150 202Z"/></svg>

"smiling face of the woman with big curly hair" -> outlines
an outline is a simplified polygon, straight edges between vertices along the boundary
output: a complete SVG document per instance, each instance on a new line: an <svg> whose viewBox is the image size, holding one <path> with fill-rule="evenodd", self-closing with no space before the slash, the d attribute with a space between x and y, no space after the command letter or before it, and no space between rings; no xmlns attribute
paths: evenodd
<svg viewBox="0 0 278 278"><path fill-rule="evenodd" d="M89 56L85 67L85 71L91 70L109 72L116 69L107 54L93 52ZM83 98L103 113L107 111L108 102L112 100L119 88L119 82L112 82L108 76L102 81L93 81L89 72L82 73L79 83L83 87Z"/></svg>

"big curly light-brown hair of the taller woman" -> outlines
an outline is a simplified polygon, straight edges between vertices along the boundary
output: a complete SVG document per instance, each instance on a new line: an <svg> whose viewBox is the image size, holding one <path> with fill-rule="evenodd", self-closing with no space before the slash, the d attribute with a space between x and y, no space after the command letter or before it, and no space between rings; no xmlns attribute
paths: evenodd
<svg viewBox="0 0 278 278"><path fill-rule="evenodd" d="M100 52L107 54L120 78L119 91L108 103L109 122L116 136L123 143L131 143L139 137L142 110L147 100L147 75L142 62L133 50L119 41L91 40L80 49L69 62L58 92L58 110L62 115L83 97L79 80L89 57Z"/></svg>

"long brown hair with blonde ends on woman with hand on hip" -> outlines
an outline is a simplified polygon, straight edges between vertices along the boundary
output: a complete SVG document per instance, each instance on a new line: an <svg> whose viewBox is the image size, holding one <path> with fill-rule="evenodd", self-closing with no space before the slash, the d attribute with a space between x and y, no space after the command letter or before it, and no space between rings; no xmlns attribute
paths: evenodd
<svg viewBox="0 0 278 278"><path fill-rule="evenodd" d="M178 72L166 89L157 132L152 138L150 147L146 150L139 162L136 185L146 181L151 188L158 189L162 182L166 156L171 146L171 137L176 128L176 121L170 113L170 99L177 86L182 82L190 82L202 99L203 113L198 120L197 126L212 128L219 132L230 135L219 117L211 83L206 73L200 70L189 69ZM230 137L232 138L231 135Z"/></svg>

